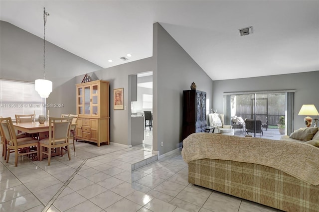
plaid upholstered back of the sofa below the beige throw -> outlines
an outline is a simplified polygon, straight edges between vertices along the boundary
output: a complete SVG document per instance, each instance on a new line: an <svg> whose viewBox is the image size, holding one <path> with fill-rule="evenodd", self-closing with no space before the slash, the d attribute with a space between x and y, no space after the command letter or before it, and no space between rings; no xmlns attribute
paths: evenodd
<svg viewBox="0 0 319 212"><path fill-rule="evenodd" d="M319 186L268 166L193 160L188 162L188 182L287 212L319 212Z"/></svg>

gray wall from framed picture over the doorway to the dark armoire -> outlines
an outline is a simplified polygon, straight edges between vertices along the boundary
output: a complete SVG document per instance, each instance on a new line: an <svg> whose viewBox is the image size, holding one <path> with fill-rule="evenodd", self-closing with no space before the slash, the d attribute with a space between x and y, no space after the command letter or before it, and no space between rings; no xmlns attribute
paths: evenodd
<svg viewBox="0 0 319 212"><path fill-rule="evenodd" d="M182 90L194 81L212 102L212 80L160 26L154 24L153 57L90 73L110 81L110 140L131 145L130 75L153 71L153 150L160 155L181 145ZM83 76L78 76L79 81ZM113 109L113 89L124 88L124 110ZM207 106L207 108L210 108ZM159 141L159 142L158 142ZM163 141L163 147L160 142Z"/></svg>

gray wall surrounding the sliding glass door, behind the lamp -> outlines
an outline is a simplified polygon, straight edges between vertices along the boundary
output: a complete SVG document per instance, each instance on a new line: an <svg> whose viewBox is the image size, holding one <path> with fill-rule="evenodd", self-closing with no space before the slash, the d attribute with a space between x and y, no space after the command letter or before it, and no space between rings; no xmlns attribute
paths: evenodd
<svg viewBox="0 0 319 212"><path fill-rule="evenodd" d="M235 80L213 81L213 108L223 111L224 92L250 92L296 89L295 129L305 127L304 115L298 115L302 105L314 104L319 109L319 71ZM315 118L315 117L313 117Z"/></svg>

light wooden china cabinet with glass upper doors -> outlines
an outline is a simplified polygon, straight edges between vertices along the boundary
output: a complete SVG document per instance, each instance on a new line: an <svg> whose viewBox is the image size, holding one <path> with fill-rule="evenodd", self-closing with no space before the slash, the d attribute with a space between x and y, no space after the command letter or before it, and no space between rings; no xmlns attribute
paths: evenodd
<svg viewBox="0 0 319 212"><path fill-rule="evenodd" d="M76 139L110 144L109 86L102 80L76 85Z"/></svg>

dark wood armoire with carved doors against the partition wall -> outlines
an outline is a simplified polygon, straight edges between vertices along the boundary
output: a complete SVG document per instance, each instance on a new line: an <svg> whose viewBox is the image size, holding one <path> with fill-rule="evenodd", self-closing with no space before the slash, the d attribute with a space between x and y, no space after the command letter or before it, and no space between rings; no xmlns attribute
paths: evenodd
<svg viewBox="0 0 319 212"><path fill-rule="evenodd" d="M194 132L204 132L206 123L206 92L183 91L182 139Z"/></svg>

